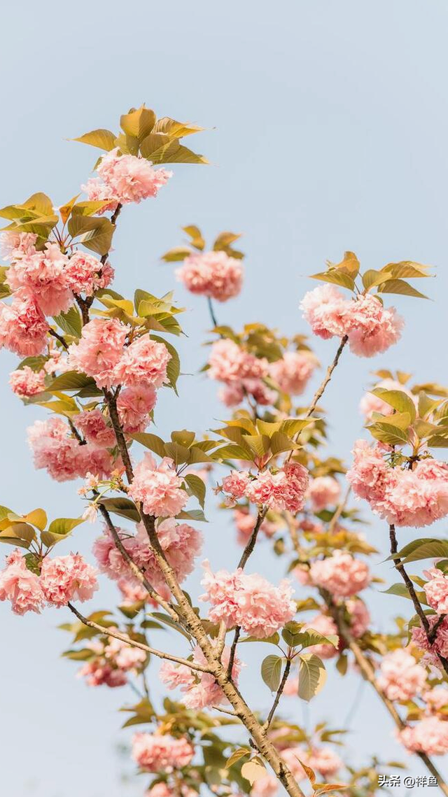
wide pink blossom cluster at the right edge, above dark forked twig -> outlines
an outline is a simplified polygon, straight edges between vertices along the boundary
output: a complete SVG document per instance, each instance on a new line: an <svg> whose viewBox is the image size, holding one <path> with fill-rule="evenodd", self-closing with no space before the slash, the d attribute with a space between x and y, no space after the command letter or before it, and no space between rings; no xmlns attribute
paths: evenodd
<svg viewBox="0 0 448 797"><path fill-rule="evenodd" d="M424 459L412 470L391 468L380 446L356 441L347 478L354 493L397 526L420 528L448 514L448 465Z"/></svg>

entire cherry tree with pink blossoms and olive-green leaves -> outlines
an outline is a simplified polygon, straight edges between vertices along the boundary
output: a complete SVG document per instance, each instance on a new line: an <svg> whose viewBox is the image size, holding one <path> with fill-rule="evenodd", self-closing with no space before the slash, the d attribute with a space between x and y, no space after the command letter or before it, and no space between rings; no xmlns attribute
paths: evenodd
<svg viewBox="0 0 448 797"><path fill-rule="evenodd" d="M448 795L435 763L448 752L448 541L412 531L403 545L406 531L400 543L397 536L448 514L448 465L437 457L448 444L448 389L377 371L360 403L366 431L353 442L349 469L326 456L320 404L342 356L382 354L406 334L389 294L424 298L414 281L429 268L401 261L360 273L347 252L312 275L322 284L302 297L304 321L297 316L292 339L262 323L235 331L218 323L215 303L242 291L240 236L222 232L207 246L198 226L185 226L188 243L162 259L177 264L179 290L208 303L201 378L219 384L227 420L163 440L151 426L165 391L182 400L172 343L182 311L173 293L154 296L151 285L132 300L117 293L120 264L112 267L109 253L127 206L171 190L167 167L206 163L181 143L200 131L132 108L118 135L96 129L75 139L100 150L84 196L55 207L37 193L0 210L0 346L21 358L10 387L31 408L49 410L28 430L35 467L75 482L83 502L80 516L50 521L43 508L0 507L0 541L10 546L0 600L18 615L71 613L65 657L81 662L78 675L88 686L138 695L125 727L139 726L132 759L148 797L375 794L399 764L373 757L354 768L344 728L309 731L284 717L293 697L310 701L325 688L332 666L370 685L403 751ZM320 363L307 325L336 338L309 398ZM232 571L202 561L206 501L233 520L241 556ZM387 634L364 603L379 581L364 536L370 510L383 520L399 579L387 592L412 607ZM77 553L84 522L101 524L95 564ZM72 552L58 556L69 537ZM280 583L253 571L256 546L267 565L282 564ZM410 575L408 565L426 559L422 576ZM194 595L183 589L187 576ZM100 608L104 579L116 583L114 608ZM159 648L153 638L162 628L170 642ZM248 644L268 646L261 673L250 673L272 693L266 715L239 683Z"/></svg>

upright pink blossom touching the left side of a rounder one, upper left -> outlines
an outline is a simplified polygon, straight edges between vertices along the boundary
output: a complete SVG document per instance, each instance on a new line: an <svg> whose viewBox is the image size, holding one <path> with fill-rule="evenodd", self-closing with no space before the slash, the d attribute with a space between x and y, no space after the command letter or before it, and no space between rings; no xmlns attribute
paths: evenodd
<svg viewBox="0 0 448 797"><path fill-rule="evenodd" d="M69 346L69 367L92 376L98 387L118 384L116 366L127 335L128 327L118 318L94 318L83 327L79 343Z"/></svg>

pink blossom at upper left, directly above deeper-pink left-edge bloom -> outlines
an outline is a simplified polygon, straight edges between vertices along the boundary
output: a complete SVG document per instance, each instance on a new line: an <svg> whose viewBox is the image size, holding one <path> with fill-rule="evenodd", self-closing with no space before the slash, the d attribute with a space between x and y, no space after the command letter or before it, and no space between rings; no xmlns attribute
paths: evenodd
<svg viewBox="0 0 448 797"><path fill-rule="evenodd" d="M57 316L73 304L73 293L65 267L69 261L56 243L45 244L41 252L23 254L8 269L12 291L24 289L45 316Z"/></svg>

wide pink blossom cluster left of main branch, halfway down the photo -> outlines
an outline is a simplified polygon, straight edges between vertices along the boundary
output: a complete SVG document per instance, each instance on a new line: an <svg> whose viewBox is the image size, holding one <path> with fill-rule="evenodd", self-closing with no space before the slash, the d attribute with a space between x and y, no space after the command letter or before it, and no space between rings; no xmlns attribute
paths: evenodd
<svg viewBox="0 0 448 797"><path fill-rule="evenodd" d="M55 416L29 426L28 442L34 466L46 469L55 481L84 478L88 472L108 477L116 464L108 450L98 447L97 442L81 445L65 421Z"/></svg>

